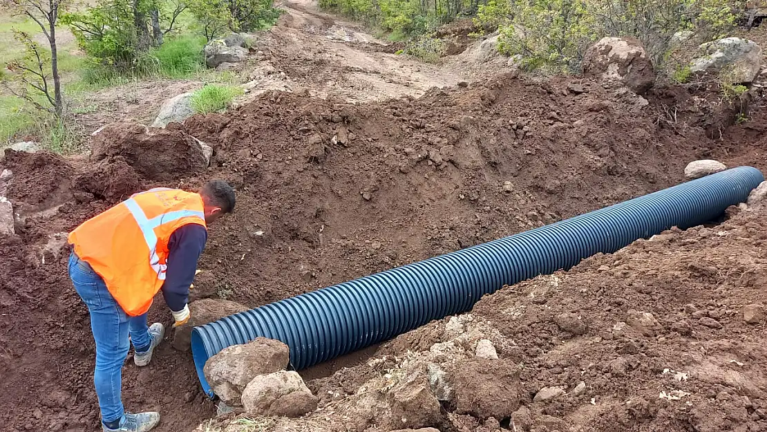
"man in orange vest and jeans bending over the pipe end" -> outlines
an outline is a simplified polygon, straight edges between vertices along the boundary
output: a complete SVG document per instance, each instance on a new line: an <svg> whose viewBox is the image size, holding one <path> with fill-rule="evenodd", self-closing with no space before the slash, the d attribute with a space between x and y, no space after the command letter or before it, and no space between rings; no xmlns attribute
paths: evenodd
<svg viewBox="0 0 767 432"><path fill-rule="evenodd" d="M159 413L123 409L123 361L132 343L133 362L146 366L162 341L163 325L146 322L158 291L173 327L189 321L186 302L207 226L234 207L235 192L223 180L206 183L199 193L157 188L133 194L69 234L69 276L91 313L94 385L104 431L146 432L160 422Z"/></svg>

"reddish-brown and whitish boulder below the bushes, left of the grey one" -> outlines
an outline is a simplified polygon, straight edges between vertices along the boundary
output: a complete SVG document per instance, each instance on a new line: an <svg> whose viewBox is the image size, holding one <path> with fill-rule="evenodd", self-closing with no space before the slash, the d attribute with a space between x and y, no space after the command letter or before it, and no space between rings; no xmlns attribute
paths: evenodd
<svg viewBox="0 0 767 432"><path fill-rule="evenodd" d="M621 81L637 94L646 93L655 81L653 62L634 38L601 38L586 51L583 73L604 81Z"/></svg>

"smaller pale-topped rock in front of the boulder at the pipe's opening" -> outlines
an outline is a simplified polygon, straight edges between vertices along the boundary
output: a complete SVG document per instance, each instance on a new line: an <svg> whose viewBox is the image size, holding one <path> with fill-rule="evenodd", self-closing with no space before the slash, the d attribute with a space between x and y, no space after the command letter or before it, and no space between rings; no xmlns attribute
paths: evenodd
<svg viewBox="0 0 767 432"><path fill-rule="evenodd" d="M242 406L251 415L301 417L314 411L317 403L295 371L258 375L242 391Z"/></svg>

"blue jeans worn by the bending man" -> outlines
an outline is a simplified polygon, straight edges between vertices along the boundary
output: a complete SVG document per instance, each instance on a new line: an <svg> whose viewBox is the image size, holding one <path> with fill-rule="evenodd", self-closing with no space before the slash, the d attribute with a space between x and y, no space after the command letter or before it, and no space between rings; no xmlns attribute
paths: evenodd
<svg viewBox="0 0 767 432"><path fill-rule="evenodd" d="M96 341L94 385L101 420L118 420L124 413L120 397L122 368L130 342L137 352L144 352L150 348L152 341L146 326L146 314L137 317L127 315L107 290L104 279L74 252L69 257L69 277L88 312L91 312L91 331Z"/></svg>

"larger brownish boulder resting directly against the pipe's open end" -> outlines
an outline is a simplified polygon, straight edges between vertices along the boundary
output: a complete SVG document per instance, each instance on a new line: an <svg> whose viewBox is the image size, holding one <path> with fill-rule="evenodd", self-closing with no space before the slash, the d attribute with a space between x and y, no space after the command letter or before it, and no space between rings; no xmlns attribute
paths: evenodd
<svg viewBox="0 0 767 432"><path fill-rule="evenodd" d="M235 406L240 404L242 391L253 378L282 371L289 362L288 345L273 339L255 338L245 345L224 348L206 361L203 372L213 392L225 404Z"/></svg>

